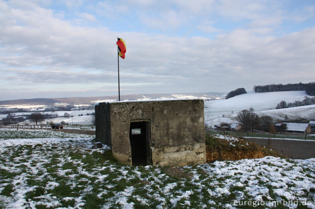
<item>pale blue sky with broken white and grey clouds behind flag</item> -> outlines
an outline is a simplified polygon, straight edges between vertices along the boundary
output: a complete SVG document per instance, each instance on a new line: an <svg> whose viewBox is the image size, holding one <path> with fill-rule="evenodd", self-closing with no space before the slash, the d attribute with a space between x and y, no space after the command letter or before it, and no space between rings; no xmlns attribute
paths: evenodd
<svg viewBox="0 0 315 209"><path fill-rule="evenodd" d="M0 100L315 81L315 2L0 0Z"/></svg>

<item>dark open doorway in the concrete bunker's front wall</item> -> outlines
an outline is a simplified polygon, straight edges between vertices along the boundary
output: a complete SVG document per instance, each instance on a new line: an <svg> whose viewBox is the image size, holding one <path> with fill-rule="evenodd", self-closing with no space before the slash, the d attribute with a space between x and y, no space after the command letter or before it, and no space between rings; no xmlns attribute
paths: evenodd
<svg viewBox="0 0 315 209"><path fill-rule="evenodd" d="M149 121L130 122L129 139L132 165L151 165Z"/></svg>

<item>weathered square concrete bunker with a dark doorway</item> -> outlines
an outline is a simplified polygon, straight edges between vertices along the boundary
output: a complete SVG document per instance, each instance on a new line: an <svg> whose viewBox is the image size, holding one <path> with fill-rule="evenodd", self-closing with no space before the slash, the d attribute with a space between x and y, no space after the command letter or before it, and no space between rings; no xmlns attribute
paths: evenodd
<svg viewBox="0 0 315 209"><path fill-rule="evenodd" d="M99 103L96 138L127 165L206 162L203 100Z"/></svg>

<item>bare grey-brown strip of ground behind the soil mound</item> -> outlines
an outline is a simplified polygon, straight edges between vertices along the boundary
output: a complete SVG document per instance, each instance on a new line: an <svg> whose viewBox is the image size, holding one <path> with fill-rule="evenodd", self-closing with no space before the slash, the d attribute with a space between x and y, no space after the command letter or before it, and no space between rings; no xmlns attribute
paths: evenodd
<svg viewBox="0 0 315 209"><path fill-rule="evenodd" d="M244 137L244 139L277 150L287 158L302 160L315 158L315 141L248 137Z"/></svg>

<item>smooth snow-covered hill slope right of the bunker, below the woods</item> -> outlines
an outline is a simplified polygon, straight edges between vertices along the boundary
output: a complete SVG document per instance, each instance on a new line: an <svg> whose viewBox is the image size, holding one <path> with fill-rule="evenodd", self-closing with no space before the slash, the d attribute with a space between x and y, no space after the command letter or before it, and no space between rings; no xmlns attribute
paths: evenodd
<svg viewBox="0 0 315 209"><path fill-rule="evenodd" d="M251 92L230 99L206 101L204 103L205 122L209 126L221 122L233 123L236 122L233 119L238 112L248 110L251 107L257 115L270 115L274 120L284 120L285 115L288 115L291 120L311 119L315 117L315 105L274 110L282 100L286 102L302 101L305 96L308 96L305 91Z"/></svg>

